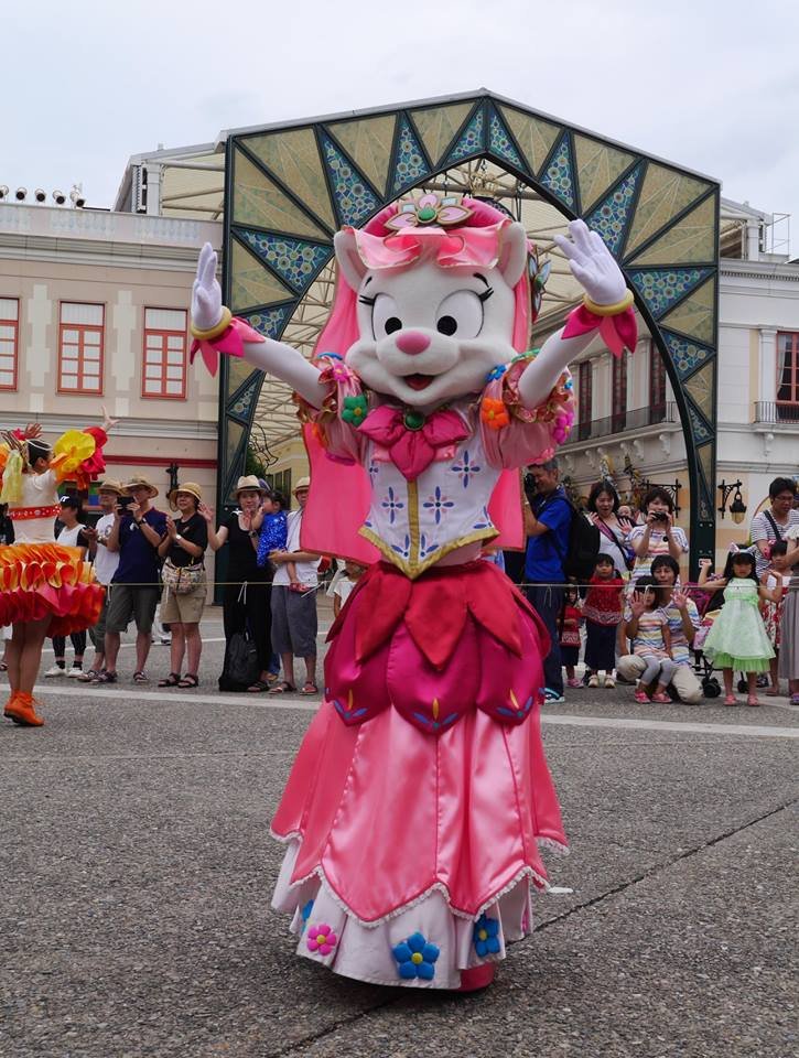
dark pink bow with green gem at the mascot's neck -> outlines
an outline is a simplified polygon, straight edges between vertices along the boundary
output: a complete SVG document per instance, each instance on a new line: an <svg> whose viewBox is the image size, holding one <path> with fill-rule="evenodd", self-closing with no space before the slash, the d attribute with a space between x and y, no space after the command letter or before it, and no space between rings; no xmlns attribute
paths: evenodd
<svg viewBox="0 0 799 1058"><path fill-rule="evenodd" d="M435 450L468 436L463 419L454 411L435 411L420 430L409 430L399 408L381 404L358 428L388 449L391 462L407 482L415 482L435 458Z"/></svg>

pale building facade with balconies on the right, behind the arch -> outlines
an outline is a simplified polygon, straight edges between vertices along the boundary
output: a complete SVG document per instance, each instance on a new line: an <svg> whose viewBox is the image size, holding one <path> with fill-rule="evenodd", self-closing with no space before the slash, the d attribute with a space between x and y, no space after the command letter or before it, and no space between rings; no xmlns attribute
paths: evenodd
<svg viewBox="0 0 799 1058"><path fill-rule="evenodd" d="M786 245L775 247L773 227L773 215L722 201L719 388L711 395L719 439L714 558L721 565L732 543L747 540L754 515L768 506L769 483L799 481L799 261L779 252ZM688 531L684 435L651 339L645 334L635 355L620 361L597 341L572 371L580 410L560 454L575 492L587 495L608 475L628 493L636 484L631 469L673 489L678 522ZM736 483L746 507L739 522L730 510L736 489L728 486Z"/></svg>

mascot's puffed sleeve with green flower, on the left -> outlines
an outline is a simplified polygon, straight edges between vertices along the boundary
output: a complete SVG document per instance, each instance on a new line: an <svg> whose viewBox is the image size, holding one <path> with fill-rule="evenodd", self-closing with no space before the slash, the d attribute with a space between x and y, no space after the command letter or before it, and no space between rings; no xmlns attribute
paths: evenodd
<svg viewBox="0 0 799 1058"><path fill-rule="evenodd" d="M366 438L358 427L369 411L369 401L358 376L334 353L322 353L315 359L320 382L327 385L321 408L314 408L294 393L299 417L312 424L314 435L332 460L360 463Z"/></svg>

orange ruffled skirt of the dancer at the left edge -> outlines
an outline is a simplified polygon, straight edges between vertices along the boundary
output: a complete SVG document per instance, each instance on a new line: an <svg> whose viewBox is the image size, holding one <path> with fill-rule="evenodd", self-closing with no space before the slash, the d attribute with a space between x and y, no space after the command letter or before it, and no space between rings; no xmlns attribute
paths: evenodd
<svg viewBox="0 0 799 1058"><path fill-rule="evenodd" d="M51 636L68 636L97 623L105 587L77 548L12 543L0 548L0 625L53 620Z"/></svg>

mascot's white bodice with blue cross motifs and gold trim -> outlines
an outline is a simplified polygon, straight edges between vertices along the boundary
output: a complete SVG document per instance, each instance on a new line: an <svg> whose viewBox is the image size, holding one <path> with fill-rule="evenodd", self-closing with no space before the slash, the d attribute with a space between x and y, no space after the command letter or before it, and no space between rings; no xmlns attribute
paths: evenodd
<svg viewBox="0 0 799 1058"><path fill-rule="evenodd" d="M450 552L499 533L488 501L501 471L489 465L479 431L439 455L444 457L408 482L386 455L376 455L374 444L366 452L371 507L360 532L411 577Z"/></svg>

